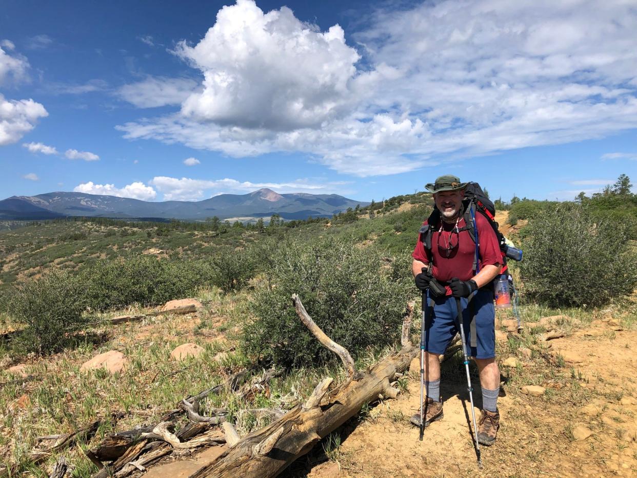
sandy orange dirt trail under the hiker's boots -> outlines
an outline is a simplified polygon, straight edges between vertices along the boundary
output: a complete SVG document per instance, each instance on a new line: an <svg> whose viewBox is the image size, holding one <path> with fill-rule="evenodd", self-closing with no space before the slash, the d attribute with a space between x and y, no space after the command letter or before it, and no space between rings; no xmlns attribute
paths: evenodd
<svg viewBox="0 0 637 478"><path fill-rule="evenodd" d="M561 368L576 376L566 385L557 377L541 384L550 400L523 395L519 384L504 387L507 395L498 402L501 430L495 445L482 448L483 470L476 467L469 437L464 372L461 363L452 361L443 364L445 417L427 427L424 440L419 442L419 430L408 423L419 407L415 371L410 372L408 394L381 403L354 430L344 431L337 459L340 476L637 476L637 332L613 328L597 322L552 341L552 350L571 351L582 362L573 365L574 372L568 363ZM480 388L477 377L473 379L479 416ZM573 404L576 394L582 394L582 404ZM579 425L592 435L575 440L571 430ZM323 476L323 468L328 463L310 475ZM334 468L330 470L326 475L334 475Z"/></svg>

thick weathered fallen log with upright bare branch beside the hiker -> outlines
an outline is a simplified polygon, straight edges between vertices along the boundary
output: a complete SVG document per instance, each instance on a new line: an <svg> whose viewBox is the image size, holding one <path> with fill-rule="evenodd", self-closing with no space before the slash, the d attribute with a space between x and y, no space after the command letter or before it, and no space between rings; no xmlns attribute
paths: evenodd
<svg viewBox="0 0 637 478"><path fill-rule="evenodd" d="M318 440L357 414L365 403L375 402L379 395L385 398L397 395L392 383L417 354L408 333L411 314L407 314L403 322L402 349L376 362L368 370L358 371L349 352L318 328L296 294L292 301L311 333L341 358L348 379L329 391L332 379L327 377L303 405L297 405L268 426L253 431L234 444L226 438L229 447L224 453L189 478L276 476L292 461L308 453ZM224 423L224 428L234 430L231 424Z"/></svg>

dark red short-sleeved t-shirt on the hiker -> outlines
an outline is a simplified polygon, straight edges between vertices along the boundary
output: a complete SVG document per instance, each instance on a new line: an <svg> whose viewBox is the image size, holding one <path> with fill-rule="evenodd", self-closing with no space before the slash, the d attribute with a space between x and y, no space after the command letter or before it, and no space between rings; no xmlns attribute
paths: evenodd
<svg viewBox="0 0 637 478"><path fill-rule="evenodd" d="M480 269L488 265L502 264L502 252L497 242L496 233L491 228L489 221L482 214L476 214L476 222L478 224L478 239L480 242L480 257L478 265ZM427 221L422 223L423 226ZM458 228L465 226L464 218L458 222ZM447 224L443 222L443 231L440 232L440 226L434 230L431 237L431 254L433 256L433 264L431 273L439 282L449 282L454 277L460 280L472 279L473 261L476 254L475 242L471 239L469 231L455 232L455 223ZM413 249L412 257L417 261L429 264L427 254L425 252L422 238L418 238L416 247ZM451 290L447 287L447 295L451 294Z"/></svg>

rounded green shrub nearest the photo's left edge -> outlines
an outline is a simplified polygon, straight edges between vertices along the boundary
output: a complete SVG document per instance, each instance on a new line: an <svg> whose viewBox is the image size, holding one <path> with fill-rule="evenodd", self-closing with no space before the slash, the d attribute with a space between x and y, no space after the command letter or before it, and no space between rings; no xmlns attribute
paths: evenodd
<svg viewBox="0 0 637 478"><path fill-rule="evenodd" d="M87 326L86 301L77 277L51 270L17 287L10 304L11 315L26 327L17 340L25 351L56 352Z"/></svg>

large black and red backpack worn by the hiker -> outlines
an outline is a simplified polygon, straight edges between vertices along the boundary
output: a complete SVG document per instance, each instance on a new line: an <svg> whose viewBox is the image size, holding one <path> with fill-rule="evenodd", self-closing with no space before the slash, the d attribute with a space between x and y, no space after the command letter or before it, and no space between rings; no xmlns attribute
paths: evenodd
<svg viewBox="0 0 637 478"><path fill-rule="evenodd" d="M462 199L462 206L464 208L464 226L459 229L459 231L468 231L469 236L471 236L471 240L476 245L476 254L473 259L473 271L475 273L478 272L478 259L480 256L480 231L476 234L475 227L475 215L482 214L487 218L487 222L493 229L494 233L496 233L497 242L500 245L500 250L502 252L502 260L503 260L503 269L501 273L506 271L506 252L510 247L506 244L505 236L499 231L495 220L496 215L496 206L491 202L489 198L482 191L482 187L480 184L476 182L467 183L464 189L464 199ZM440 225L440 210L434 206L434 210L429 215L427 219L427 224L420 228L420 239L422 240L425 251L427 254L427 258L431 262L431 238L433 237L433 233L438 229ZM521 257L521 256L520 256Z"/></svg>

